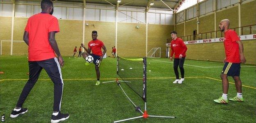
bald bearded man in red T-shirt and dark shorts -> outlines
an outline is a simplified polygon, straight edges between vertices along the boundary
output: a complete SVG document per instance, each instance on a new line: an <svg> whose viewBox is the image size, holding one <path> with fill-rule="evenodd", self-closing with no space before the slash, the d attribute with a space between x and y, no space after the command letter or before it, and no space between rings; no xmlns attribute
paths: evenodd
<svg viewBox="0 0 256 123"><path fill-rule="evenodd" d="M234 30L229 29L230 21L224 19L219 23L219 30L224 32L224 48L226 57L223 63L225 63L222 73L220 75L222 79L222 96L214 100L216 103L227 104L229 100L236 102L243 102L242 98L242 82L240 80L240 63L245 63L244 48L242 41L240 41L238 35ZM228 100L229 80L228 76L233 77L235 80L235 87L237 96Z"/></svg>

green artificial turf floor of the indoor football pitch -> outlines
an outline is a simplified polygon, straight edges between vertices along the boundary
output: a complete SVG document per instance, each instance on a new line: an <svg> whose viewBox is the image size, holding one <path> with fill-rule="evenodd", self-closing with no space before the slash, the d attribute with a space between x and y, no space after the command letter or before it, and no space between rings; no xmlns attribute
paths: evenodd
<svg viewBox="0 0 256 123"><path fill-rule="evenodd" d="M69 113L66 123L110 123L141 116L126 98L115 80L117 59L103 59L100 67L101 84L96 86L94 65L85 65L80 58L64 57L62 77L64 91L61 112ZM10 118L29 75L27 56L0 57L0 114L8 123L50 122L53 109L53 82L43 70L39 80L25 100L28 112ZM147 111L149 115L176 116L176 118L135 119L129 122L256 122L256 66L241 65L240 78L245 102L217 104L222 96L220 73L223 63L185 60L185 81L175 80L173 63L167 58L147 58ZM143 70L143 68L142 68ZM136 78L134 78L136 80ZM138 79L140 82L141 79ZM133 102L144 111L144 101L126 84L121 86ZM141 87L142 88L142 87ZM229 77L228 98L236 96L235 84Z"/></svg>

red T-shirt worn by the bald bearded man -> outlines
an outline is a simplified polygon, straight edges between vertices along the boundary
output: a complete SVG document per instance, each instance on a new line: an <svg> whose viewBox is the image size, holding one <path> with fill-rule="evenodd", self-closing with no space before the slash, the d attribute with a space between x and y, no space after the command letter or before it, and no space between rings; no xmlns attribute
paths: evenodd
<svg viewBox="0 0 256 123"><path fill-rule="evenodd" d="M239 45L236 41L240 41L234 30L224 32L224 48L226 53L226 62L240 63Z"/></svg>

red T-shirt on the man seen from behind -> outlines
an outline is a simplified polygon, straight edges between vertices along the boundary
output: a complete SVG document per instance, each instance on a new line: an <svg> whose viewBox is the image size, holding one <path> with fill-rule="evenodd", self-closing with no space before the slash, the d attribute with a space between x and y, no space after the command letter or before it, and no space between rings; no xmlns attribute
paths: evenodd
<svg viewBox="0 0 256 123"><path fill-rule="evenodd" d="M28 60L42 61L55 56L48 40L49 32L59 32L58 19L47 13L39 13L28 18L25 31L28 32Z"/></svg>

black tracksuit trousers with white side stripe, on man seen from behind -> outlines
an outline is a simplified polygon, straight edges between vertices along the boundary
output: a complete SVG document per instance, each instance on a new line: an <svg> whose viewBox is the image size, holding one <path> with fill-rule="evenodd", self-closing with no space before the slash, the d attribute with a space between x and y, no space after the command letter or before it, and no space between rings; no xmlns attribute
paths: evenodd
<svg viewBox="0 0 256 123"><path fill-rule="evenodd" d="M16 107L22 107L25 99L30 93L31 89L36 84L39 75L42 69L45 69L50 79L54 84L54 103L53 103L53 111L60 111L61 101L62 101L62 93L63 93L63 80L60 64L56 57L52 59L46 59L43 61L31 62L29 61L29 80L25 84L21 92L21 96L18 99L18 103Z"/></svg>

